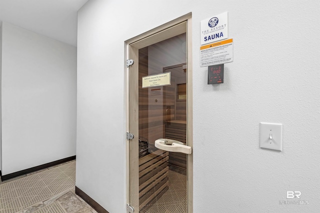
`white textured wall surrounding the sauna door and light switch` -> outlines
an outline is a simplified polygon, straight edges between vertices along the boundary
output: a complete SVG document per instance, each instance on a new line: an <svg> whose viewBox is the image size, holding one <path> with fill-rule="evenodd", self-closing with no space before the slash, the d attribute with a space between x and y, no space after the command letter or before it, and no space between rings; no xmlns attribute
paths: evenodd
<svg viewBox="0 0 320 213"><path fill-rule="evenodd" d="M318 212L319 8L315 0L88 1L78 12L76 185L125 212L124 40L191 11L193 212ZM223 84L207 85L200 21L224 11L234 61ZM281 152L259 148L260 121L283 123ZM287 190L309 204L279 204Z"/></svg>

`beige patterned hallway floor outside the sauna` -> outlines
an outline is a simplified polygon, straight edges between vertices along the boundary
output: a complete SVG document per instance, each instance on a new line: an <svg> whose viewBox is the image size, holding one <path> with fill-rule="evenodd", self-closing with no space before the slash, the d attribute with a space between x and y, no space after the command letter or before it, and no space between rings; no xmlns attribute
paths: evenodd
<svg viewBox="0 0 320 213"><path fill-rule="evenodd" d="M96 213L74 184L75 160L0 182L0 213Z"/></svg>

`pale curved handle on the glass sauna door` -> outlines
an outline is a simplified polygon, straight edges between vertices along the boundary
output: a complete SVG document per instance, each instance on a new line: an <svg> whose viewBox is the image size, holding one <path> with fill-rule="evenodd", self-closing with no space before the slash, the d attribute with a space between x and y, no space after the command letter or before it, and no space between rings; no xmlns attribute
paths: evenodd
<svg viewBox="0 0 320 213"><path fill-rule="evenodd" d="M165 151L181 152L185 154L192 153L191 146L184 145L183 142L172 139L159 138L154 141L154 146Z"/></svg>

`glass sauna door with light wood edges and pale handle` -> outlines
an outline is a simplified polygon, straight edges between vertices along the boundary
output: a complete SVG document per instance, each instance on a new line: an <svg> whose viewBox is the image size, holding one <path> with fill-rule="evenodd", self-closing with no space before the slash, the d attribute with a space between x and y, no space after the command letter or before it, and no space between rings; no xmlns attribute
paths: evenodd
<svg viewBox="0 0 320 213"><path fill-rule="evenodd" d="M187 22L129 44L128 204L134 212L191 212Z"/></svg>

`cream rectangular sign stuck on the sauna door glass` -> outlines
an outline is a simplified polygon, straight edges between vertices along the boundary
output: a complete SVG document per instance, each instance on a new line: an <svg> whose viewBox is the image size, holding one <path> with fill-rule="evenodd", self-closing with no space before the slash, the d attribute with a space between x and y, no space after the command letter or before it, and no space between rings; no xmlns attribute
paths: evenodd
<svg viewBox="0 0 320 213"><path fill-rule="evenodd" d="M142 77L142 88L152 86L165 86L171 84L171 72L153 74Z"/></svg>

